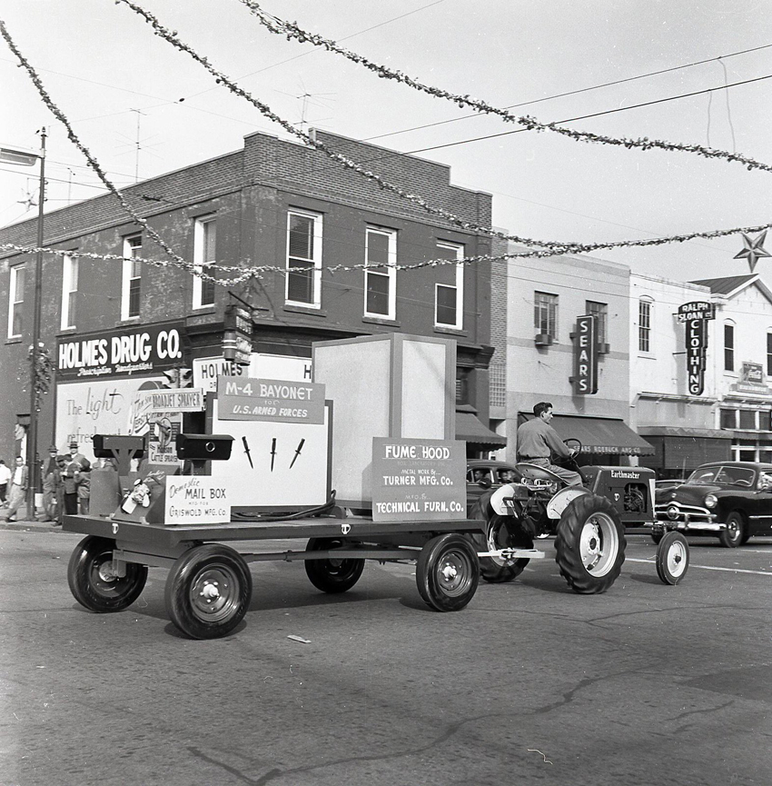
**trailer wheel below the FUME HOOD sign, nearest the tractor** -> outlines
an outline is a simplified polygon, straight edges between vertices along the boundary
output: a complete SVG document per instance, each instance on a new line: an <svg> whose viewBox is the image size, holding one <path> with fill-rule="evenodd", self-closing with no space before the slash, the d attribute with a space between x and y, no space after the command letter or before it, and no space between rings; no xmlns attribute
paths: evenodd
<svg viewBox="0 0 772 786"><path fill-rule="evenodd" d="M421 598L432 609L458 612L477 592L477 552L463 535L438 535L421 549L415 579Z"/></svg>

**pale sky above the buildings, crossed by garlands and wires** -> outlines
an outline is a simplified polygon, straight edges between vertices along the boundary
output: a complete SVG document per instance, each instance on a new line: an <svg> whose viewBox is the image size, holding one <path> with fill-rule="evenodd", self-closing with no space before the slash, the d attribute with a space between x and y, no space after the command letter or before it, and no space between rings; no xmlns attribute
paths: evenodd
<svg viewBox="0 0 772 786"><path fill-rule="evenodd" d="M510 234L606 243L772 223L772 172L524 131L274 35L239 0L137 4L297 127L450 165L453 184L493 195L493 224ZM514 114L772 164L772 78L766 78L772 77L772 0L260 5L375 63L453 94L513 107ZM239 150L255 131L290 138L153 35L127 5L3 0L0 19L116 185ZM0 39L0 144L37 149L36 132L45 126L46 210L104 193L17 63ZM626 81L609 85L620 80ZM748 80L756 81L723 87ZM709 92L665 100L700 91ZM36 198L36 167L0 162L0 225L35 217ZM748 273L745 259L733 259L743 247L734 234L591 255L635 273L688 281ZM772 254L772 232L766 248ZM772 284L772 257L760 259L756 272Z"/></svg>

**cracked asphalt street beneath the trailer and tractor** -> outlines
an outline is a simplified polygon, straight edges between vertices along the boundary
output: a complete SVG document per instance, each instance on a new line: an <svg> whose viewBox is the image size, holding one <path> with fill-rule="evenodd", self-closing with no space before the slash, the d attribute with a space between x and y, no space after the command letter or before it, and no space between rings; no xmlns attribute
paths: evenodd
<svg viewBox="0 0 772 786"><path fill-rule="evenodd" d="M245 621L210 642L168 621L159 569L127 611L85 612L78 540L0 529L4 786L772 780L770 540L693 539L668 587L632 534L599 596L568 592L542 541L519 581L447 614L412 565L370 562L332 597L262 562Z"/></svg>

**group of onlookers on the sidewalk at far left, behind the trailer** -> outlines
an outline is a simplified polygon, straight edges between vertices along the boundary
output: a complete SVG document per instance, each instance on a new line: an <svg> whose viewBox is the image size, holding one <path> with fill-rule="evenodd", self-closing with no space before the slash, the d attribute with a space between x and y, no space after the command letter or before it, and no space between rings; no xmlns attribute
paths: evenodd
<svg viewBox="0 0 772 786"><path fill-rule="evenodd" d="M69 453L59 453L56 445L51 445L41 465L43 509L36 518L54 526L62 524L64 515L88 512L92 465L78 443L69 447ZM16 520L20 509L25 511L27 483L28 468L21 456L16 456L13 471L0 459L0 507L7 505L5 519L9 522Z"/></svg>

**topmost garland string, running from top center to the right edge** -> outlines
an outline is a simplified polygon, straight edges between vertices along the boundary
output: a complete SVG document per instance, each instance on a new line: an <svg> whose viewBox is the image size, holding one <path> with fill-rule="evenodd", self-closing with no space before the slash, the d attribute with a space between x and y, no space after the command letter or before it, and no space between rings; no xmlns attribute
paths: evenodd
<svg viewBox="0 0 772 786"><path fill-rule="evenodd" d="M434 98L445 98L453 104L458 104L461 108L469 107L482 114L497 114L502 120L507 123L516 123L524 126L528 131L554 131L556 134L563 134L573 139L575 142L585 142L589 144L615 144L623 147L638 148L639 150L652 150L658 148L660 150L668 150L670 152L691 153L701 155L705 158L718 158L724 159L728 163L743 164L748 170L761 169L766 172L772 172L772 165L763 164L738 153L729 153L726 150L717 150L712 147L703 147L701 144L679 144L673 142L666 142L660 139L648 139L644 136L639 139L629 139L627 137L606 136L604 134L592 134L588 131L576 131L573 128L566 128L565 126L555 123L540 123L535 117L529 114L515 115L508 112L506 109L501 109L496 106L482 101L479 98L473 98L470 95L456 95L440 87L433 87L431 85L424 85L417 79L411 76L402 74L401 71L394 71L385 65L373 63L362 55L351 52L341 45L336 44L328 38L323 38L321 35L315 33L308 33L303 30L296 22L287 22L280 19L278 16L268 14L263 11L256 0L240 0L243 5L246 5L252 15L256 16L258 21L266 29L270 30L275 35L285 35L287 40L293 38L301 44L312 44L314 46L321 46L328 52L333 52L337 55L342 55L352 63L363 65L369 69L373 74L378 75L381 79L392 79L400 82L402 85L408 85L421 93L426 93Z"/></svg>

